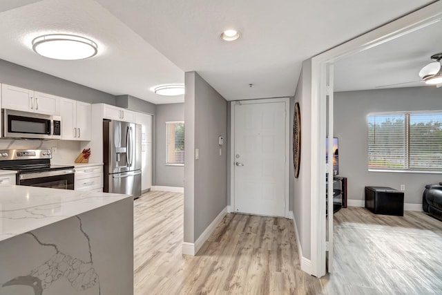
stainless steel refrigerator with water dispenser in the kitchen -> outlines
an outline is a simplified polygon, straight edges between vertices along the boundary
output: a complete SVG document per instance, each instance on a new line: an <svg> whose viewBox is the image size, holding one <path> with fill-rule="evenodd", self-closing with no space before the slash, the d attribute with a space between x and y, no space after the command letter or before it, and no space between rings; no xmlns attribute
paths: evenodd
<svg viewBox="0 0 442 295"><path fill-rule="evenodd" d="M103 121L104 191L141 196L140 124Z"/></svg>

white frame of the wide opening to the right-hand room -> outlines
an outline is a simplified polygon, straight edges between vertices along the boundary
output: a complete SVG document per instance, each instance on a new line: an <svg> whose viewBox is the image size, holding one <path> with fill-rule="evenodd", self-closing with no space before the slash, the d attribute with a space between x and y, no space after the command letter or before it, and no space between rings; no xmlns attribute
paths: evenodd
<svg viewBox="0 0 442 295"><path fill-rule="evenodd" d="M327 130L327 66L335 61L401 37L441 20L442 1L396 19L311 59L311 274L326 274L325 137Z"/></svg>

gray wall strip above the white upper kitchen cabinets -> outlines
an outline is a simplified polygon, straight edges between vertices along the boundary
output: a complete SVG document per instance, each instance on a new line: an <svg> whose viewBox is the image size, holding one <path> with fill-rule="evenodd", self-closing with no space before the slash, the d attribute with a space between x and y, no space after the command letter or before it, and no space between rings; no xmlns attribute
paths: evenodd
<svg viewBox="0 0 442 295"><path fill-rule="evenodd" d="M115 96L0 59L0 83L81 102L115 105Z"/></svg>

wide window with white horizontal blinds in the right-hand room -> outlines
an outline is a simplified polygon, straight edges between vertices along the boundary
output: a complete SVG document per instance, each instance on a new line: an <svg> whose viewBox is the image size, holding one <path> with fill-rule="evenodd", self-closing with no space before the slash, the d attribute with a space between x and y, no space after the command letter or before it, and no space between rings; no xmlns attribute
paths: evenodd
<svg viewBox="0 0 442 295"><path fill-rule="evenodd" d="M368 170L442 171L442 112L368 115Z"/></svg>

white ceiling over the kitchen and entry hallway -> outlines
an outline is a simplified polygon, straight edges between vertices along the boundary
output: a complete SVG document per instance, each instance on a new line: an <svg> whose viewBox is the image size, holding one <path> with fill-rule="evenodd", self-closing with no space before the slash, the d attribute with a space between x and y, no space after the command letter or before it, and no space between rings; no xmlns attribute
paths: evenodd
<svg viewBox="0 0 442 295"><path fill-rule="evenodd" d="M191 70L228 100L288 96L303 60L430 2L8 0L0 2L0 59L155 104L182 102L150 88L183 83ZM226 28L242 37L222 41ZM51 32L94 39L99 54L57 61L33 53L32 39Z"/></svg>

